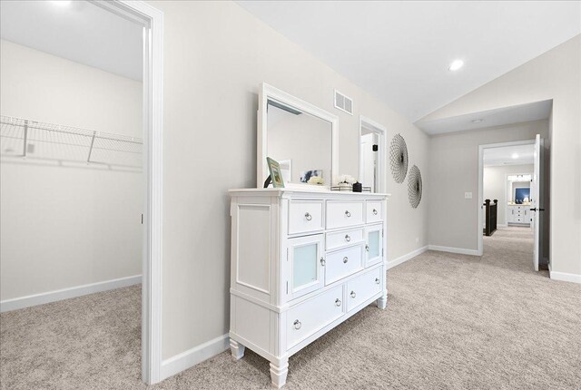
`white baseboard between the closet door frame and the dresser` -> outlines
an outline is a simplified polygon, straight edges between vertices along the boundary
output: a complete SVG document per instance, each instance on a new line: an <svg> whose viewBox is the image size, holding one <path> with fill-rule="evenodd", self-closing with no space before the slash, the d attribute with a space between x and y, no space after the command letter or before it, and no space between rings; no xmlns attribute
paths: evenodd
<svg viewBox="0 0 581 390"><path fill-rule="evenodd" d="M192 366L202 363L213 356L216 356L230 348L230 337L228 334L218 336L200 346L194 346L179 355L172 356L162 361L160 380L181 373Z"/></svg>

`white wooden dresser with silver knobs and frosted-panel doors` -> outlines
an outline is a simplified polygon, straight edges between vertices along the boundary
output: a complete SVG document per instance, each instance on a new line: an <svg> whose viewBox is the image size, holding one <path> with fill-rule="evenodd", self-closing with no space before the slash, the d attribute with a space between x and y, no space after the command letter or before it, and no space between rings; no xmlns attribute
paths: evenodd
<svg viewBox="0 0 581 390"><path fill-rule="evenodd" d="M373 301L386 307L388 195L230 194L232 358L250 348L271 362L281 387L289 356Z"/></svg>

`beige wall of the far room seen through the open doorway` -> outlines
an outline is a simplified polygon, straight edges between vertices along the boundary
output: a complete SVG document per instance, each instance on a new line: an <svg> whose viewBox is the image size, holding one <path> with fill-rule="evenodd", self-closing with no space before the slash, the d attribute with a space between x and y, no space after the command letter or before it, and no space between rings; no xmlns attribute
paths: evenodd
<svg viewBox="0 0 581 390"><path fill-rule="evenodd" d="M507 202L511 200L510 192L507 185L507 175L517 173L533 173L533 165L505 165L497 167L484 167L483 176L483 194L484 200L498 200L497 225L507 224ZM514 184L514 183L513 183ZM518 182L519 187L529 187L530 183L522 185Z"/></svg>

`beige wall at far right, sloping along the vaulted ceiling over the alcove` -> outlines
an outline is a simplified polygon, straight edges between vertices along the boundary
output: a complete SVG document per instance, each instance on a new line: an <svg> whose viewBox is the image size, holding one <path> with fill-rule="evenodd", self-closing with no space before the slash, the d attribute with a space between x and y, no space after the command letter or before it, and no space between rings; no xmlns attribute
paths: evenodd
<svg viewBox="0 0 581 390"><path fill-rule="evenodd" d="M581 275L581 202L571 202L571 197L578 199L581 193L580 86L581 35L577 35L425 118L436 120L553 99L549 138L550 262L553 271L577 276ZM433 229L431 232L438 236Z"/></svg>

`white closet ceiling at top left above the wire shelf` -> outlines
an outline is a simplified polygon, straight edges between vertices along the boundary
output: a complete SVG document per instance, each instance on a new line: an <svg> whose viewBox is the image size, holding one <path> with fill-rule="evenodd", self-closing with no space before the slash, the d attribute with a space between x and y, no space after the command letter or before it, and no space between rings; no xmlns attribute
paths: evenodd
<svg viewBox="0 0 581 390"><path fill-rule="evenodd" d="M141 81L143 27L86 1L2 1L0 37Z"/></svg>

